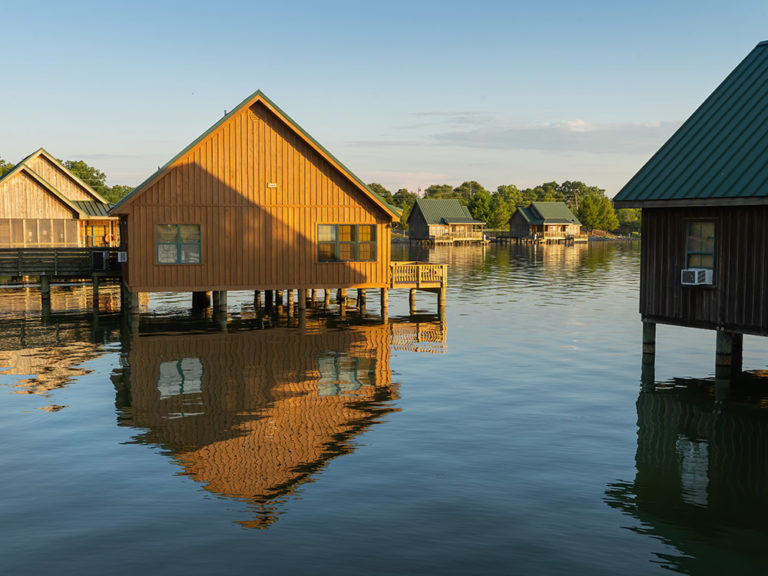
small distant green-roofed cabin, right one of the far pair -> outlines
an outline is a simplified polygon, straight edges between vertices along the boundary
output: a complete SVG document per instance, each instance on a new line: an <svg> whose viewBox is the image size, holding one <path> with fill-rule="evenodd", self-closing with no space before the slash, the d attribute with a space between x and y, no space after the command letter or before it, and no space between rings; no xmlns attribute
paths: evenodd
<svg viewBox="0 0 768 576"><path fill-rule="evenodd" d="M511 238L544 242L586 241L581 222L564 202L532 202L509 219Z"/></svg>

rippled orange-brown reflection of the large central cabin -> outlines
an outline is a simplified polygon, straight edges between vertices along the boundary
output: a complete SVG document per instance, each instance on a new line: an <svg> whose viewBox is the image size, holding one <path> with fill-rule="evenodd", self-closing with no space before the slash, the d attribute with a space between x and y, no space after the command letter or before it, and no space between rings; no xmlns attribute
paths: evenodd
<svg viewBox="0 0 768 576"><path fill-rule="evenodd" d="M167 449L210 492L249 503L263 528L280 503L396 409L384 324L141 335L116 371L120 424Z"/></svg>

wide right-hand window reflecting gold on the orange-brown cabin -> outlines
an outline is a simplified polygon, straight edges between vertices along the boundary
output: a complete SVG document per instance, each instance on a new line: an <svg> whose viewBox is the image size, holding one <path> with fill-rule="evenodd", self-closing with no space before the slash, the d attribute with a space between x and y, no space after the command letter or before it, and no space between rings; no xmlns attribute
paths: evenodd
<svg viewBox="0 0 768 576"><path fill-rule="evenodd" d="M319 224L317 245L320 262L375 262L376 226Z"/></svg>

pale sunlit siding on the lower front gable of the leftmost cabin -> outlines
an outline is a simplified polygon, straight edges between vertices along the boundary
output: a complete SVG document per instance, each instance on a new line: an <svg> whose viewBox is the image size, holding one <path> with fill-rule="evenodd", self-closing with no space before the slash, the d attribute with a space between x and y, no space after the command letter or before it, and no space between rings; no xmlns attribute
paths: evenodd
<svg viewBox="0 0 768 576"><path fill-rule="evenodd" d="M0 218L72 219L74 211L21 170L0 183Z"/></svg>

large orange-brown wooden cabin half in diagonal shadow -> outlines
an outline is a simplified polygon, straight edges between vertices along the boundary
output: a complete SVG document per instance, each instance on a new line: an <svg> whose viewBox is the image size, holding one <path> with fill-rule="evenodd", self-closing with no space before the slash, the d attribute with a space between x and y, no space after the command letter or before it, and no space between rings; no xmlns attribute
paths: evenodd
<svg viewBox="0 0 768 576"><path fill-rule="evenodd" d="M384 288L399 218L260 91L111 214L131 292Z"/></svg>

